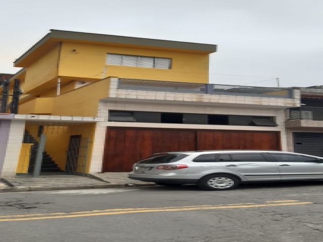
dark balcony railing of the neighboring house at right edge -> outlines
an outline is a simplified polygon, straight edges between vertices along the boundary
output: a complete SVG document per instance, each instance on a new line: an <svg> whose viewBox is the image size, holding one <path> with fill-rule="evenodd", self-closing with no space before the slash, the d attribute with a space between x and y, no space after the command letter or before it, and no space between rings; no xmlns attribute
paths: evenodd
<svg viewBox="0 0 323 242"><path fill-rule="evenodd" d="M323 120L323 107L292 107L289 108L289 119Z"/></svg>

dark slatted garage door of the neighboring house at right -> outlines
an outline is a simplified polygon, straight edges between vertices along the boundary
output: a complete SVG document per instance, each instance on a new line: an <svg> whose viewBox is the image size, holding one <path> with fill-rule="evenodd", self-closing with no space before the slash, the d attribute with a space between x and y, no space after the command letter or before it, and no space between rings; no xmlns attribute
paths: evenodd
<svg viewBox="0 0 323 242"><path fill-rule="evenodd" d="M323 133L294 133L294 152L323 157Z"/></svg>

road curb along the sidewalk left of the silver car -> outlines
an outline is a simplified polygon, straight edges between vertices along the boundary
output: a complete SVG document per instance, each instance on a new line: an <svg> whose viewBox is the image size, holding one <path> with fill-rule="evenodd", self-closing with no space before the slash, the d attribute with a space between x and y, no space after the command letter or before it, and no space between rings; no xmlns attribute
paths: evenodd
<svg viewBox="0 0 323 242"><path fill-rule="evenodd" d="M78 189L102 189L102 188L138 188L138 187L154 187L156 184L92 184L81 186L58 186L58 187L8 187L1 188L0 193L13 192L36 192L36 191L56 191L56 190L78 190Z"/></svg>

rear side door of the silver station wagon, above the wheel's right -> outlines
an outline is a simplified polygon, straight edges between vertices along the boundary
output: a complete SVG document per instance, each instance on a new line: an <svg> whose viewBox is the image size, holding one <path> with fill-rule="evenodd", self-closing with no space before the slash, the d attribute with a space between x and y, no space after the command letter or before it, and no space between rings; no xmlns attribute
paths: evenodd
<svg viewBox="0 0 323 242"><path fill-rule="evenodd" d="M279 166L262 153L220 154L218 164L243 175L247 180L280 180Z"/></svg>

